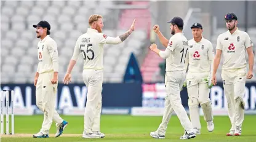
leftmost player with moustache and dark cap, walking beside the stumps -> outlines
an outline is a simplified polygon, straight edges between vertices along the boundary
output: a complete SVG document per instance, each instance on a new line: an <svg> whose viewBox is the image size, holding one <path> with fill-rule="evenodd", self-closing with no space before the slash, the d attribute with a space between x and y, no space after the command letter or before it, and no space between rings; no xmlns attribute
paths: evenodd
<svg viewBox="0 0 256 142"><path fill-rule="evenodd" d="M62 135L68 122L63 120L55 110L55 100L58 87L58 49L57 44L50 35L50 24L41 21L36 28L38 42L38 70L34 77L36 86L36 106L44 112L44 121L41 130L34 134L34 138L48 138L52 120L56 122L57 133L55 137Z"/></svg>

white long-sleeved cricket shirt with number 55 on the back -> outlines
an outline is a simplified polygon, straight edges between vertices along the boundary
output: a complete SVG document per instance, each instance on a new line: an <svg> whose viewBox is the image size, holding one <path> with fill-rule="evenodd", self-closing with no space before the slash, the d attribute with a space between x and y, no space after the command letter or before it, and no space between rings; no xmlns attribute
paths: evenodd
<svg viewBox="0 0 256 142"><path fill-rule="evenodd" d="M78 60L79 54L82 53L84 69L103 69L103 45L111 42L111 38L113 39L113 37L107 37L106 34L88 28L87 33L78 37L72 60ZM119 42L121 42L120 39L114 44Z"/></svg>

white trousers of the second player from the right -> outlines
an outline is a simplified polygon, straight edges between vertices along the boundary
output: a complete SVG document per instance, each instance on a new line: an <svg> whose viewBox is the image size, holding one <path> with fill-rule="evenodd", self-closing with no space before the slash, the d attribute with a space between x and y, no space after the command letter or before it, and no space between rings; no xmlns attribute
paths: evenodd
<svg viewBox="0 0 256 142"><path fill-rule="evenodd" d="M206 81L209 72L206 73L188 73L186 75L186 88L188 91L188 106L190 108L190 120L193 128L201 129L199 104L210 101L210 89L207 87Z"/></svg>

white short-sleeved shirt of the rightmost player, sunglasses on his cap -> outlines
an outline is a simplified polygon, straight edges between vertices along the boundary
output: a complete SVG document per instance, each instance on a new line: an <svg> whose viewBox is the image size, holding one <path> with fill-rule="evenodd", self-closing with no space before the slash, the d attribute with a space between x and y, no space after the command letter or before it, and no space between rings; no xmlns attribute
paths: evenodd
<svg viewBox="0 0 256 142"><path fill-rule="evenodd" d="M240 30L226 31L218 36L216 49L222 50L223 66L226 71L246 68L246 49L252 46L249 35Z"/></svg>

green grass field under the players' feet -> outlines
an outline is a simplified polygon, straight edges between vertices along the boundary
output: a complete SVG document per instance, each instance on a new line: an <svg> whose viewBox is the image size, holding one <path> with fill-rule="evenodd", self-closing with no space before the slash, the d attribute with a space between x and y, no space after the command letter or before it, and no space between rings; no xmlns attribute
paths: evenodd
<svg viewBox="0 0 256 142"><path fill-rule="evenodd" d="M156 130L161 123L162 117L149 116L102 116L101 132L105 133L105 138L97 140L88 140L82 138L82 131L84 127L83 116L62 116L63 119L68 120L69 125L66 127L64 133L59 138L54 138L56 127L53 124L50 128L50 138L32 138L33 133L38 133L41 124L42 116L15 116L15 135L2 135L1 141L47 141L47 142L61 142L61 141L184 141L179 140L183 135L183 128L177 116L172 116L169 126L167 128L166 139L158 140L151 138L150 132ZM206 122L201 117L202 130L201 135L188 141L256 141L255 122L256 116L246 116L242 126L242 136L226 136L226 132L230 130L230 120L227 116L215 116L215 130L210 133L207 132ZM4 127L6 128L6 127ZM10 129L11 127L9 127ZM6 130L6 129L5 129Z"/></svg>

